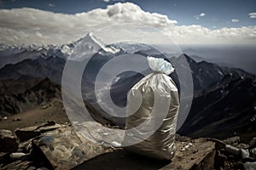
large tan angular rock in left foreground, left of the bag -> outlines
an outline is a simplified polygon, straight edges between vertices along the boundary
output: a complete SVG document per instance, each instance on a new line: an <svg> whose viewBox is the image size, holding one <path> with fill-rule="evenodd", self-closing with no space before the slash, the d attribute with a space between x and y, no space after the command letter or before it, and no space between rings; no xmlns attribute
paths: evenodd
<svg viewBox="0 0 256 170"><path fill-rule="evenodd" d="M32 140L32 145L55 169L70 169L106 152L102 145L80 137L73 127L65 125Z"/></svg>

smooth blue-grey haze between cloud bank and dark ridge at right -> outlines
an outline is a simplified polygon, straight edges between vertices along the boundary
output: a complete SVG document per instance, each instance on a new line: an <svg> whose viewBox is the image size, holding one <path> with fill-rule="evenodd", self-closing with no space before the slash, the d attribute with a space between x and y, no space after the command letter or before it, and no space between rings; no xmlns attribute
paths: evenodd
<svg viewBox="0 0 256 170"><path fill-rule="evenodd" d="M256 75L255 45L202 45L180 48L196 61L206 60L218 65L240 68Z"/></svg>

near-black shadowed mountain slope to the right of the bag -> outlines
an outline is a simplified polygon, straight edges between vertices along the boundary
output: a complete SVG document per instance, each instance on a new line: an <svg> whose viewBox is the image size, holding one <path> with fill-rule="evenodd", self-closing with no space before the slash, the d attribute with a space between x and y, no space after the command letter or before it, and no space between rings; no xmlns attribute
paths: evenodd
<svg viewBox="0 0 256 170"><path fill-rule="evenodd" d="M225 76L197 94L179 133L191 137L227 138L255 135L256 79Z"/></svg>

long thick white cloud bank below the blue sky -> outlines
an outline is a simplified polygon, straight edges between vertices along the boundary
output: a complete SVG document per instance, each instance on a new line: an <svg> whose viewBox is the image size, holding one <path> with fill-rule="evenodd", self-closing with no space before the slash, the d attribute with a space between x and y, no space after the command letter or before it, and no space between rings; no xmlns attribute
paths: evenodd
<svg viewBox="0 0 256 170"><path fill-rule="evenodd" d="M115 3L79 14L58 14L34 8L0 9L0 43L63 44L76 41L89 31L120 23L152 26L177 43L256 42L256 26L215 30L197 25L177 26L177 21L166 15L145 12L133 3ZM128 35L125 31L134 30L125 29L124 38ZM152 32L142 31L141 35L147 37L148 42L150 38L154 41Z"/></svg>

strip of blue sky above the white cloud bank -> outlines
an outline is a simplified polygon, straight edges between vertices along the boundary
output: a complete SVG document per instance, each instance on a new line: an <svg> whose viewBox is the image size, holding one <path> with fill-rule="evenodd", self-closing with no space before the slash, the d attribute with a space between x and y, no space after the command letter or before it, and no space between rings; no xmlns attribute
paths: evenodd
<svg viewBox="0 0 256 170"><path fill-rule="evenodd" d="M177 20L177 25L180 26L195 24L216 29L256 25L256 19L248 15L256 12L255 0L0 0L0 7L29 7L55 13L76 14L94 8L106 8L108 4L117 2L132 2L144 11L166 14L170 20ZM200 14L204 16L198 16Z"/></svg>

